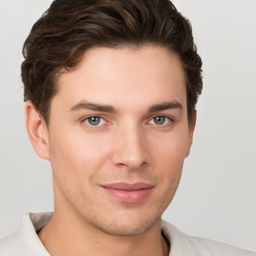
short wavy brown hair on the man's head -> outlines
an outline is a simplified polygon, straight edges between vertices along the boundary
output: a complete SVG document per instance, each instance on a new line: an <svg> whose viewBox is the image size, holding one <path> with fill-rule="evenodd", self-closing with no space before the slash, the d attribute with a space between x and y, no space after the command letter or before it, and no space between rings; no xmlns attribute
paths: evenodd
<svg viewBox="0 0 256 256"><path fill-rule="evenodd" d="M54 0L23 45L24 101L46 124L61 68L75 68L91 46L164 46L179 55L190 122L202 90L201 59L191 25L168 0Z"/></svg>

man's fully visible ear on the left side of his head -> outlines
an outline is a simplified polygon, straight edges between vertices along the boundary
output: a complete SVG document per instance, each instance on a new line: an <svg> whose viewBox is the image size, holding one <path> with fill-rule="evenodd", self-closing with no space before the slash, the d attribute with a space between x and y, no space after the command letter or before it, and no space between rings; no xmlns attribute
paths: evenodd
<svg viewBox="0 0 256 256"><path fill-rule="evenodd" d="M48 129L30 100L25 102L25 125L36 154L43 159L49 160Z"/></svg>

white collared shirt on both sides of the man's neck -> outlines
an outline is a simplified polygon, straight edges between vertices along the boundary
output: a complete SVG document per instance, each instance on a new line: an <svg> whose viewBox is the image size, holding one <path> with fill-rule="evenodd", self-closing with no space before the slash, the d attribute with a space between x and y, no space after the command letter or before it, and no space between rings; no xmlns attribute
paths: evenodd
<svg viewBox="0 0 256 256"><path fill-rule="evenodd" d="M50 256L36 231L51 216L52 212L27 212L17 231L0 239L0 256ZM164 220L162 232L170 243L169 256L256 256L256 253L232 245L186 235Z"/></svg>

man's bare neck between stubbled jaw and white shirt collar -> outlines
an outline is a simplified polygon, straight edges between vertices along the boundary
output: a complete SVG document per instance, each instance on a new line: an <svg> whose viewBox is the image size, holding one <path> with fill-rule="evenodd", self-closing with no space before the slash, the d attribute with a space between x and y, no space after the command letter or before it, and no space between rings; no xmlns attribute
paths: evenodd
<svg viewBox="0 0 256 256"><path fill-rule="evenodd" d="M64 212L64 213L63 213ZM54 210L52 219L38 236L52 255L168 255L168 245L161 236L160 219L146 232L134 236L104 233L80 216Z"/></svg>

